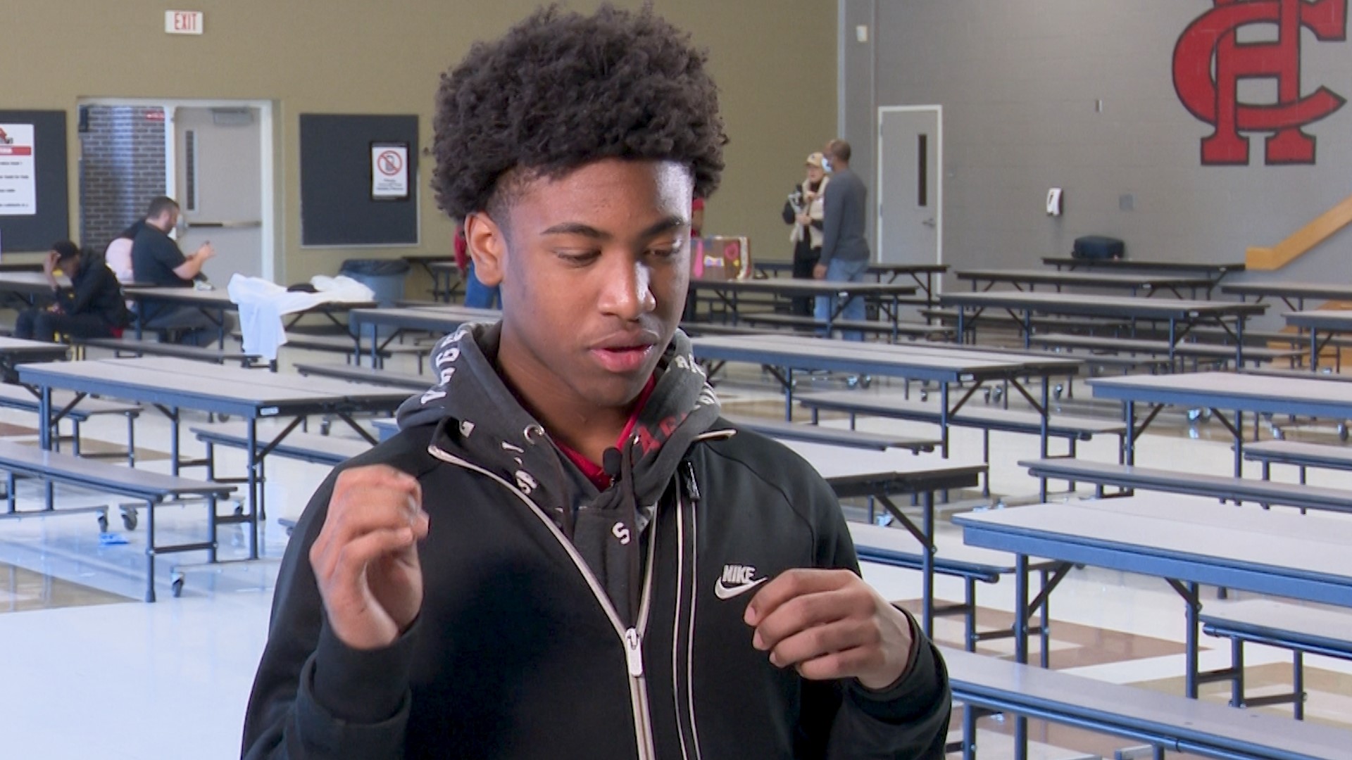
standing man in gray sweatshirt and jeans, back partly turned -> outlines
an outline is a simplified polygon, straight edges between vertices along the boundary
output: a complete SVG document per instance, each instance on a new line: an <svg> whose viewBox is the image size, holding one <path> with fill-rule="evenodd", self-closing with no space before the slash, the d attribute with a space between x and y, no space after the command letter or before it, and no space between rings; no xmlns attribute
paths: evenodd
<svg viewBox="0 0 1352 760"><path fill-rule="evenodd" d="M822 222L822 257L813 270L818 280L857 283L868 269L868 239L864 238L868 212L868 188L850 170L849 143L833 139L825 150L830 160L831 181L826 185ZM836 308L834 296L817 296L817 319L825 322ZM852 298L837 315L840 319L864 319L864 300ZM845 330L846 341L863 341L859 330Z"/></svg>

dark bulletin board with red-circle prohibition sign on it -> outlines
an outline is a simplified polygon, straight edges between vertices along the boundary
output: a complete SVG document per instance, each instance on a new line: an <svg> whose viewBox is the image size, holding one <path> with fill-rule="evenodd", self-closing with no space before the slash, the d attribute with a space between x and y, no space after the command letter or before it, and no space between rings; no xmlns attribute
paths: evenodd
<svg viewBox="0 0 1352 760"><path fill-rule="evenodd" d="M372 197L373 143L408 145L408 197ZM300 245L416 245L418 181L416 115L300 115Z"/></svg>

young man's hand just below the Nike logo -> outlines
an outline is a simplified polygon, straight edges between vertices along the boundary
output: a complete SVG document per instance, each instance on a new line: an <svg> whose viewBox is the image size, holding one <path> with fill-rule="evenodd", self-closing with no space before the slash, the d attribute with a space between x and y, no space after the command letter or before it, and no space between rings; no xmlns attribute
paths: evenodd
<svg viewBox="0 0 1352 760"><path fill-rule="evenodd" d="M856 678L883 690L911 653L910 619L850 571L791 569L752 598L742 619L775 667L810 680Z"/></svg>

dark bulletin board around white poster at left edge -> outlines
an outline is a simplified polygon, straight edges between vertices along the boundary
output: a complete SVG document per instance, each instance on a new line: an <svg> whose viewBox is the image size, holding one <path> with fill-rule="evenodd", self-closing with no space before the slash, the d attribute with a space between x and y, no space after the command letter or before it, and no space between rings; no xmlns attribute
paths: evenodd
<svg viewBox="0 0 1352 760"><path fill-rule="evenodd" d="M37 214L0 216L0 253L47 250L70 237L65 111L0 111L0 124L32 124Z"/></svg>

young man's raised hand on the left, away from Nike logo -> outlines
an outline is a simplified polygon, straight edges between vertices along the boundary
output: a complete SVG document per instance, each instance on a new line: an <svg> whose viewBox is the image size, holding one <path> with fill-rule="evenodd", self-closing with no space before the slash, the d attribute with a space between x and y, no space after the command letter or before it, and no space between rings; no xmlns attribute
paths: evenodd
<svg viewBox="0 0 1352 760"><path fill-rule="evenodd" d="M415 477L387 465L338 475L310 564L339 641L379 649L412 625L423 596L418 542L427 529Z"/></svg>

